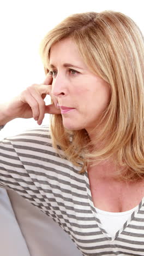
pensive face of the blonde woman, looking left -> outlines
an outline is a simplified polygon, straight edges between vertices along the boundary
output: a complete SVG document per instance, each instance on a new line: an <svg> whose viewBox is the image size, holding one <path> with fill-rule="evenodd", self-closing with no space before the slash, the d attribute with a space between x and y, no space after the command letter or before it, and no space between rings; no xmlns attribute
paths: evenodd
<svg viewBox="0 0 144 256"><path fill-rule="evenodd" d="M89 133L110 100L109 84L88 69L76 44L68 38L51 47L49 69L64 127Z"/></svg>

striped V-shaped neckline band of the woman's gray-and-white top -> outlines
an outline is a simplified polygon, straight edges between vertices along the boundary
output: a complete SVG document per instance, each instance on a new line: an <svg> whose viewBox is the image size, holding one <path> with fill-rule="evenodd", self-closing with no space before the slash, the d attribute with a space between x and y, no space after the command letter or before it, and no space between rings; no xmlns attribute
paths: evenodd
<svg viewBox="0 0 144 256"><path fill-rule="evenodd" d="M89 178L88 178L88 173L87 173L87 168L85 168L85 182L86 182L86 189L87 189L87 196L88 196L88 201L89 201L89 205L91 206L91 211L93 213L93 216L95 218L95 221L100 229L100 231L102 232L102 234L107 238L107 240L109 241L114 241L116 240L116 238L124 231L125 228L127 228L127 226L130 224L130 222L134 219L134 217L136 216L137 213L139 213L142 205L144 204L144 197L142 198L141 202L139 203L139 205L137 205L136 207L134 207L133 209L131 209L131 214L127 220L127 222L124 223L124 225L122 226L121 229L119 229L115 236L110 237L109 234L107 234L106 230L104 229L103 225L100 222L100 219L98 218L98 212L97 212L97 208L94 206L94 203L92 201L92 194L91 194L91 189L90 189L90 184L89 184ZM101 210L102 211L102 210ZM109 212L108 212L109 213Z"/></svg>

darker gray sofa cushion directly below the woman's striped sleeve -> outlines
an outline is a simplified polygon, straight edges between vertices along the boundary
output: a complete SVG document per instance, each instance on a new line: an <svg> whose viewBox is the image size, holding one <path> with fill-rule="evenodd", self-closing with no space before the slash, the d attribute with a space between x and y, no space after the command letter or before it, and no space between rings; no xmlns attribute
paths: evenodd
<svg viewBox="0 0 144 256"><path fill-rule="evenodd" d="M82 256L68 234L50 217L15 191L8 190L8 195L31 256Z"/></svg>

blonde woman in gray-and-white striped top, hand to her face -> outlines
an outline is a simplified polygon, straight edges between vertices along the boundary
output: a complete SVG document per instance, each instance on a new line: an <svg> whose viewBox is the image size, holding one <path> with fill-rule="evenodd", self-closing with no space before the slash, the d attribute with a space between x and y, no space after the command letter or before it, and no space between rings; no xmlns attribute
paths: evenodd
<svg viewBox="0 0 144 256"><path fill-rule="evenodd" d="M46 79L1 105L1 186L51 216L83 255L143 255L144 40L115 11L69 16L40 48ZM45 106L49 94L52 104ZM49 236L49 234L47 234Z"/></svg>

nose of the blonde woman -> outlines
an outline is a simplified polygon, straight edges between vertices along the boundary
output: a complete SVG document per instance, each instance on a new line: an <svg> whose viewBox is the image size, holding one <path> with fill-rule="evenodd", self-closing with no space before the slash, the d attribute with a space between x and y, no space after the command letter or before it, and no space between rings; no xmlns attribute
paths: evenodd
<svg viewBox="0 0 144 256"><path fill-rule="evenodd" d="M67 79L64 78L64 76L57 75L57 77L53 79L51 93L55 97L67 96L68 94L68 86L66 86L67 84L68 84L68 81Z"/></svg>

